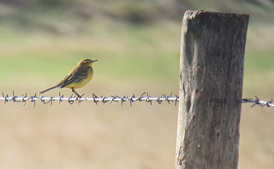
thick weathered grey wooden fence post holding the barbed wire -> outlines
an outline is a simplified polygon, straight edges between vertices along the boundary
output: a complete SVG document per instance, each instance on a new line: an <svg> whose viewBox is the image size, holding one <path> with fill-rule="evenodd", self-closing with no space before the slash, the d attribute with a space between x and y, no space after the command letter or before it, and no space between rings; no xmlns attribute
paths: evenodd
<svg viewBox="0 0 274 169"><path fill-rule="evenodd" d="M236 169L249 15L184 14L176 169Z"/></svg>

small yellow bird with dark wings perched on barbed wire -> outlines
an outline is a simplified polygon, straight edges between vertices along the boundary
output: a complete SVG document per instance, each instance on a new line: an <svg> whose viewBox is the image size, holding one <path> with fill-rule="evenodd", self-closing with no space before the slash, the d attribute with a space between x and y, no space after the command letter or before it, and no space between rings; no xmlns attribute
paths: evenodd
<svg viewBox="0 0 274 169"><path fill-rule="evenodd" d="M47 90L41 91L39 94L45 93L55 88L68 88L71 89L78 97L81 97L75 89L81 88L88 84L93 77L92 64L98 60L83 59L70 73L56 86Z"/></svg>

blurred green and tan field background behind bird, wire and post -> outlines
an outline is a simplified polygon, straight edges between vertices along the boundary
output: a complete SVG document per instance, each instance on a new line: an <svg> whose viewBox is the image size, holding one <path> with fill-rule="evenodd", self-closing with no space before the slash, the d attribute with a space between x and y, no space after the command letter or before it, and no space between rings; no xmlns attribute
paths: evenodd
<svg viewBox="0 0 274 169"><path fill-rule="evenodd" d="M274 96L273 0L0 0L0 89L34 95L85 58L79 94L178 95L186 10L250 14L243 98ZM55 89L44 96L72 92ZM239 169L274 168L274 109L243 104ZM175 168L178 105L0 103L1 169Z"/></svg>

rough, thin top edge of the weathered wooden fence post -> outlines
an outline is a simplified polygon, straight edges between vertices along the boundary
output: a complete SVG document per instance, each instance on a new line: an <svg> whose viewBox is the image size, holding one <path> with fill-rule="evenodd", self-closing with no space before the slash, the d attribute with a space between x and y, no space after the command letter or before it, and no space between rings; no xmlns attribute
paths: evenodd
<svg viewBox="0 0 274 169"><path fill-rule="evenodd" d="M209 14L209 15L218 15L218 16L235 16L235 17L240 17L244 19L249 19L249 15L245 13L225 13L225 12L211 12L211 11L204 11L204 10L198 10L198 11L186 11L184 14L184 19L194 19L196 17L199 17L204 14Z"/></svg>

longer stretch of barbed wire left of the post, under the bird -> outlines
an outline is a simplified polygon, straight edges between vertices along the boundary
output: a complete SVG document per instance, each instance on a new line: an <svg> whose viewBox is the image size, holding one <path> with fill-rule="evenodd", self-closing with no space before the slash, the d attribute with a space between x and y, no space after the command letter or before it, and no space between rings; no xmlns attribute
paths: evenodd
<svg viewBox="0 0 274 169"><path fill-rule="evenodd" d="M13 102L22 102L23 106L26 104L26 101L31 101L34 102L34 107L35 107L35 101L41 101L43 102L43 104L47 104L50 102L50 105L52 105L52 101L58 100L58 104L60 104L60 102L62 101L67 101L70 104L73 104L74 102L77 103L78 101L78 105L80 105L80 103L82 101L93 101L94 103L101 102L103 104L109 102L109 104L111 104L112 102L119 102L121 101L121 105L123 105L123 102L126 101L130 101L130 106L132 106L132 102L135 101L146 101L149 102L152 105L152 101L156 101L158 102L158 104L161 104L163 101L167 101L168 104L170 104L170 101L175 102L175 105L177 104L177 102L179 101L179 97L177 95L175 95L175 97L172 97L172 92L170 92L170 95L161 95L160 97L153 97L153 96L149 96L147 93L147 96L144 96L146 94L146 92L144 92L142 95L140 95L139 97L135 97L135 95L133 94L132 96L111 96L111 97L105 97L100 95L100 97L97 97L95 94L92 93L92 97L88 98L88 97L78 97L78 96L73 96L70 95L70 97L64 97L64 95L61 95L59 92L59 96L57 97L45 97L45 96L40 96L37 97L36 93L34 96L27 96L27 93L25 95L22 95L22 97L18 97L14 95L14 91L13 91L13 96L9 96L8 94L6 96L4 96L4 92L2 93L3 97L0 97L0 100L4 100L4 103L6 104L7 102L13 101ZM84 94L85 95L85 94Z"/></svg>

